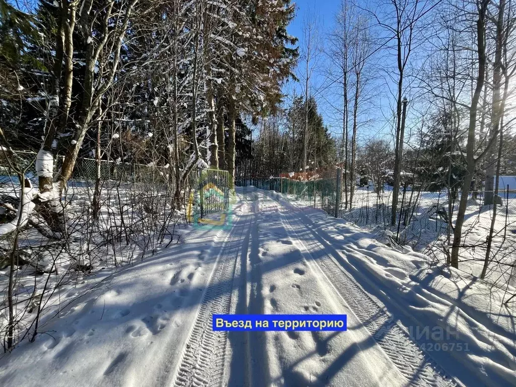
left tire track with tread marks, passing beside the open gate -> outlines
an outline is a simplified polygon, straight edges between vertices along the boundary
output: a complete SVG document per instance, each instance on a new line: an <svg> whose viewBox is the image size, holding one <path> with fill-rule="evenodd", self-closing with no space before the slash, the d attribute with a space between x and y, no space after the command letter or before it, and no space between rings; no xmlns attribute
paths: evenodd
<svg viewBox="0 0 516 387"><path fill-rule="evenodd" d="M253 215L247 217L244 224L240 216L234 221L220 248L176 372L173 384L176 387L222 384L228 332L212 330L212 315L230 312L235 264Z"/></svg>

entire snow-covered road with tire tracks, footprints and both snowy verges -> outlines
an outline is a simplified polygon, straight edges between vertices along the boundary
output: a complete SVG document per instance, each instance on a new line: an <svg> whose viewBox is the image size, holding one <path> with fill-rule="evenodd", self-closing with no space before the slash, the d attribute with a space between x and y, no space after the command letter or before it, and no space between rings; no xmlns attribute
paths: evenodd
<svg viewBox="0 0 516 387"><path fill-rule="evenodd" d="M462 329L475 313L432 294L428 283L412 286L421 254L393 251L273 192L237 194L229 230L201 227L105 281L100 273L92 291L44 322L36 343L0 360L0 384L516 384L514 330L490 320L471 335ZM224 313L347 314L348 330L213 332L212 314ZM436 333L450 318L460 335ZM429 334L415 340L414 327ZM471 352L448 350L459 343ZM482 350L493 356L483 359Z"/></svg>

